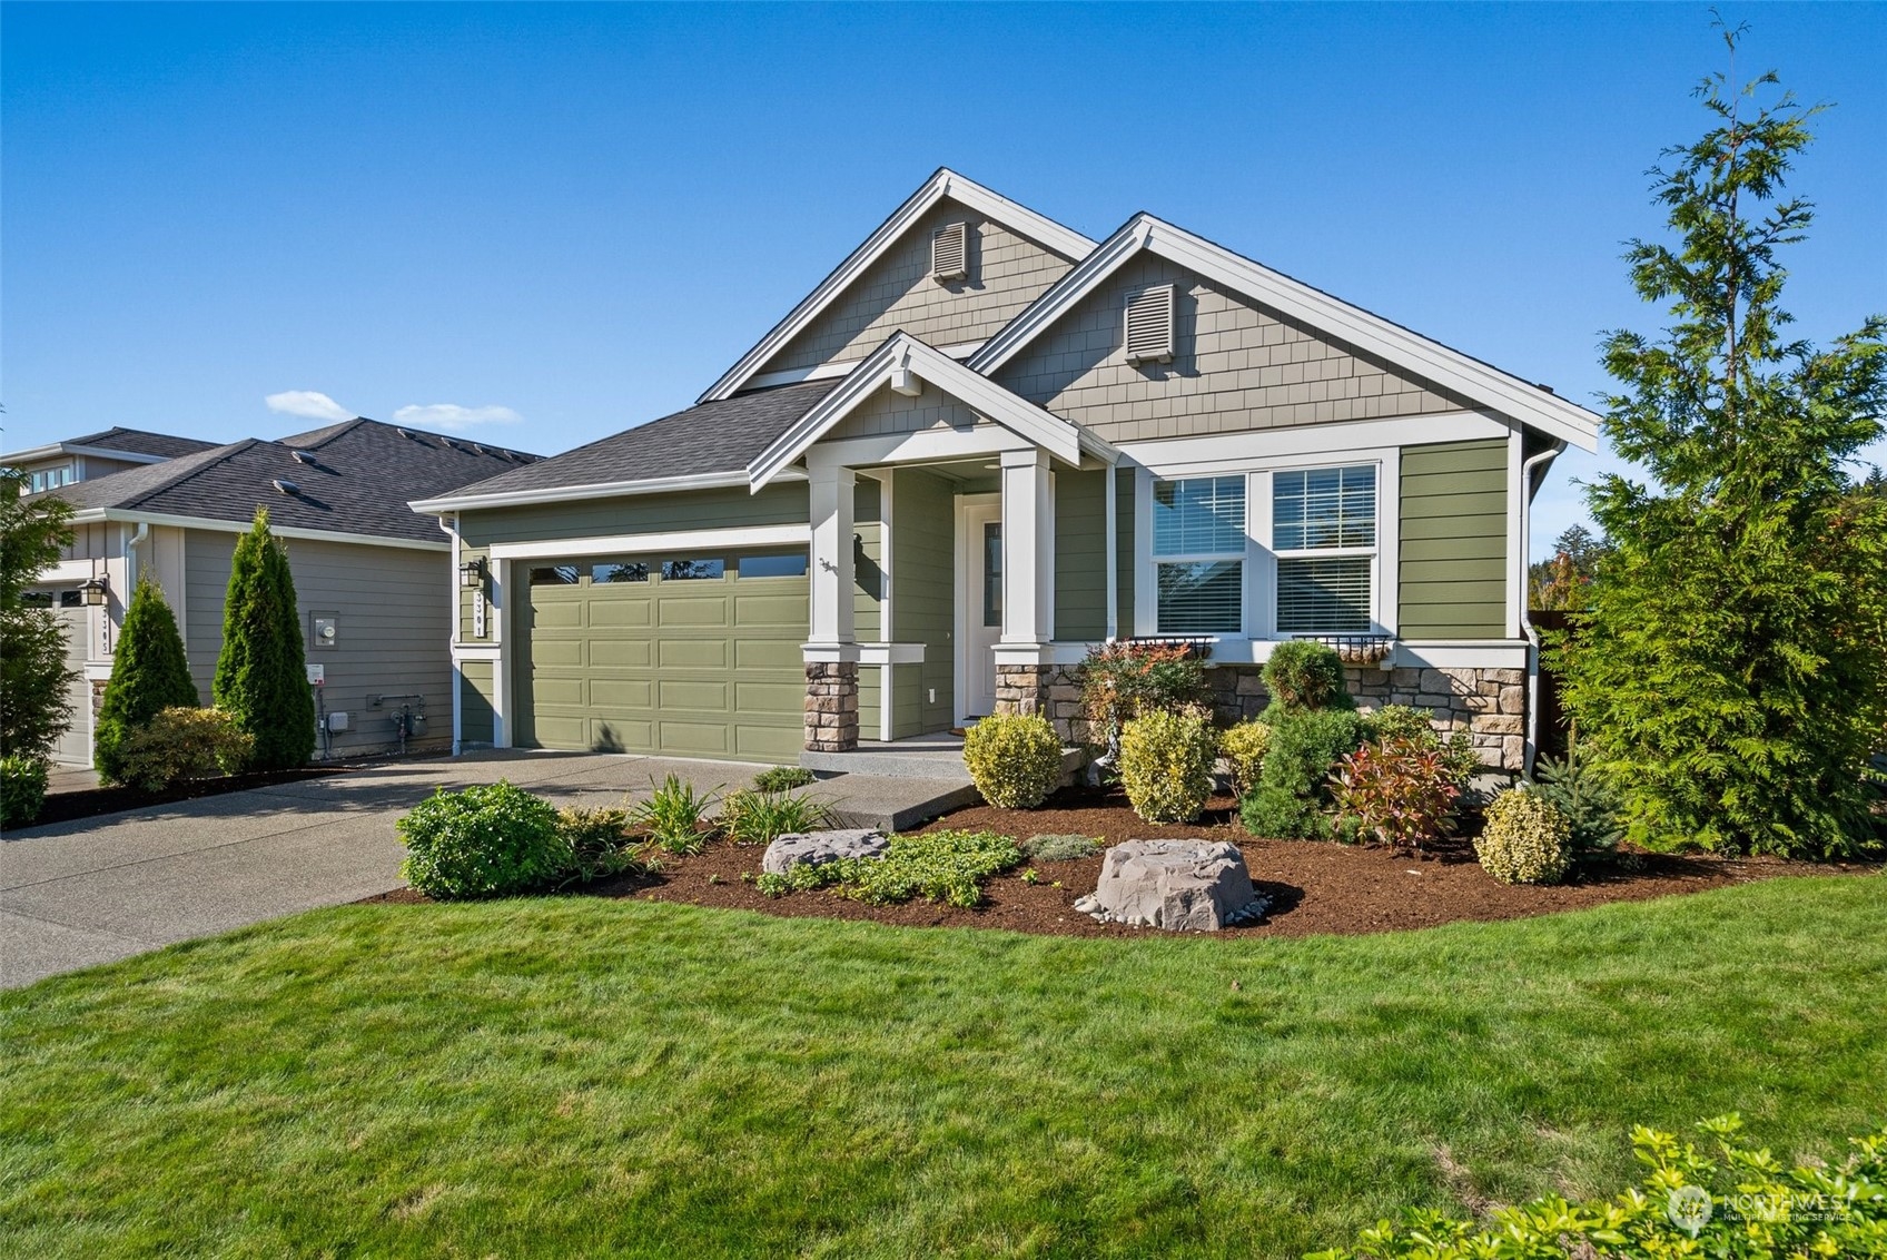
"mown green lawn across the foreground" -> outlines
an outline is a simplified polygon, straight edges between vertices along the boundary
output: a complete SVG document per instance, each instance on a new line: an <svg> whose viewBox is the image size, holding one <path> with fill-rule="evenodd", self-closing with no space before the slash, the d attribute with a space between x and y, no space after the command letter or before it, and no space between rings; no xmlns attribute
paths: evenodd
<svg viewBox="0 0 1887 1260"><path fill-rule="evenodd" d="M0 1252L1289 1256L1615 1190L1632 1122L1834 1154L1883 1009L1881 877L1279 943L343 907L0 996Z"/></svg>

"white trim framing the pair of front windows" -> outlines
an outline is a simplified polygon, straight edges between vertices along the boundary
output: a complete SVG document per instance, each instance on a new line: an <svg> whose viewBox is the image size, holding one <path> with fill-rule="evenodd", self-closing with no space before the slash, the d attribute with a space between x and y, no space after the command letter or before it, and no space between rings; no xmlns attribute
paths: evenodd
<svg viewBox="0 0 1887 1260"><path fill-rule="evenodd" d="M1245 474L1245 616L1238 635L1200 635L1217 642L1279 642L1277 553L1272 550L1272 472L1376 465L1376 546L1313 548L1287 555L1361 555L1374 552L1370 572L1372 635L1396 635L1402 555L1402 448L1308 451L1247 459L1161 463L1134 468L1134 635L1159 635L1159 589L1153 555L1153 482ZM1162 555L1159 559L1174 559ZM1355 631L1364 633L1364 631Z"/></svg>

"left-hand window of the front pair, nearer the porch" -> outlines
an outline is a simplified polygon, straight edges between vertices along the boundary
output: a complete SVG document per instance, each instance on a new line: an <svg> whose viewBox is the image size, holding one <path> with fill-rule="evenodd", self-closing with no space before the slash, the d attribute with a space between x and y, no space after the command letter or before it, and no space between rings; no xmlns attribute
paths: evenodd
<svg viewBox="0 0 1887 1260"><path fill-rule="evenodd" d="M1161 635L1238 635L1245 610L1245 476L1153 484Z"/></svg>

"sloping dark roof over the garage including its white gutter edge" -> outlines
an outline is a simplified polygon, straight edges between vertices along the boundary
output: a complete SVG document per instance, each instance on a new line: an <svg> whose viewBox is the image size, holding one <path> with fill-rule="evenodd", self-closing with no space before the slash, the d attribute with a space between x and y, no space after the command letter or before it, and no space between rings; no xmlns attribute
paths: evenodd
<svg viewBox="0 0 1887 1260"><path fill-rule="evenodd" d="M415 499L415 512L596 499L638 489L747 485L747 463L838 382L802 382L702 402L553 459L513 468L451 495Z"/></svg>

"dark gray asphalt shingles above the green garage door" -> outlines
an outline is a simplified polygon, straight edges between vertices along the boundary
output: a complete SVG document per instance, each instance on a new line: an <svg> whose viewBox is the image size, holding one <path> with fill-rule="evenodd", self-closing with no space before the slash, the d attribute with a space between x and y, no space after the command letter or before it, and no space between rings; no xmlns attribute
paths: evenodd
<svg viewBox="0 0 1887 1260"><path fill-rule="evenodd" d="M579 446L526 468L460 485L460 495L504 495L608 482L647 482L664 476L736 472L772 446L793 421L810 412L838 382L804 382L702 402L623 433ZM408 495L425 499L425 495Z"/></svg>

